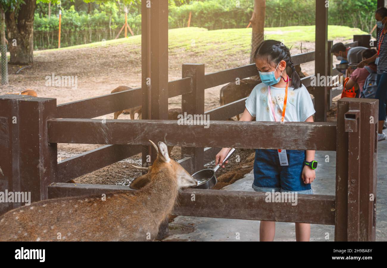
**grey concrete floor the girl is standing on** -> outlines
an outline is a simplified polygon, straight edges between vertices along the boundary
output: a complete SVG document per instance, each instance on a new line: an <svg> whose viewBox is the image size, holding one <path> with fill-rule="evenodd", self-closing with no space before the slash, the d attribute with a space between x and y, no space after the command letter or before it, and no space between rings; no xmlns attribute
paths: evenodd
<svg viewBox="0 0 387 268"><path fill-rule="evenodd" d="M387 241L387 140L378 143L378 181L376 240ZM325 162L326 156L329 162ZM336 152L317 151L316 179L312 183L317 195L335 195ZM222 190L253 191L253 174ZM164 241L259 241L259 222L256 220L233 220L178 216L170 223L170 236ZM239 237L236 236L239 233ZM239 239L238 239L239 238ZM276 223L275 241L295 241L295 224ZM333 225L311 225L310 241L334 241Z"/></svg>

